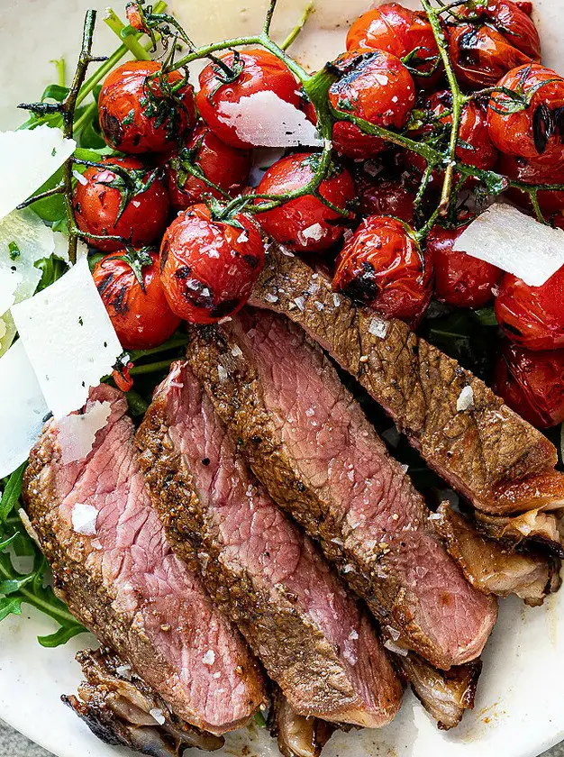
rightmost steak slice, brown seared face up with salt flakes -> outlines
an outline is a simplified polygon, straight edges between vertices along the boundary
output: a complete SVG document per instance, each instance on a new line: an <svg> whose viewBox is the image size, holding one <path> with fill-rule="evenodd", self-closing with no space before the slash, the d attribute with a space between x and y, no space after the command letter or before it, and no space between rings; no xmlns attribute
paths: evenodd
<svg viewBox="0 0 564 757"><path fill-rule="evenodd" d="M250 304L287 315L359 380L427 464L478 509L558 509L564 476L552 444L487 386L401 321L333 294L331 281L270 246ZM462 389L473 404L457 409Z"/></svg>

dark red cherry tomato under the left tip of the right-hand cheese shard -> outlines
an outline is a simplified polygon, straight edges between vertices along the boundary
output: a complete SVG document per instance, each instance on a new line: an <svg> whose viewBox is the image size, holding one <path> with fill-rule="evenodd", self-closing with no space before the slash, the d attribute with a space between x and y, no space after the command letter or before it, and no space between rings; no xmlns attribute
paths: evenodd
<svg viewBox="0 0 564 757"><path fill-rule="evenodd" d="M493 300L492 290L503 271L466 252L452 250L466 228L433 226L427 238L427 254L435 271L436 298L447 305L478 308Z"/></svg>

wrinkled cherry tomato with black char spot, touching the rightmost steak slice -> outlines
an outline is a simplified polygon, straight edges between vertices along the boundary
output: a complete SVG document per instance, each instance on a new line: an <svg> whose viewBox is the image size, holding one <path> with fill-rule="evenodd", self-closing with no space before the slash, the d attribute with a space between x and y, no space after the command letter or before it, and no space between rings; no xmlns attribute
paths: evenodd
<svg viewBox="0 0 564 757"><path fill-rule="evenodd" d="M333 290L385 318L417 325L432 295L432 266L404 223L372 215L337 258Z"/></svg>

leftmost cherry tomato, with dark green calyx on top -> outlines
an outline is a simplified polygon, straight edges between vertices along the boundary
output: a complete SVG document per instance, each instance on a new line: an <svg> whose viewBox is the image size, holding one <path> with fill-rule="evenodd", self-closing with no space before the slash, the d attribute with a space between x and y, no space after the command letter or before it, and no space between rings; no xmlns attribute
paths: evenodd
<svg viewBox="0 0 564 757"><path fill-rule="evenodd" d="M155 242L168 218L162 169L147 169L137 158L107 157L101 162L107 168L86 169L75 187L78 228L89 234L120 236L135 247ZM123 247L123 242L113 239L89 242L106 252Z"/></svg>

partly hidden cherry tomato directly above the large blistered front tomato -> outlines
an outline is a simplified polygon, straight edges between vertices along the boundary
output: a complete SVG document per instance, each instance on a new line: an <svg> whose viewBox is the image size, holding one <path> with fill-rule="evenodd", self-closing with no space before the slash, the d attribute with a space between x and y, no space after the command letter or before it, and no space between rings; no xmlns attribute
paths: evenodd
<svg viewBox="0 0 564 757"><path fill-rule="evenodd" d="M168 162L168 193L175 210L186 210L204 195L222 197L221 192L196 178L186 167L201 171L223 192L235 196L249 179L250 151L230 147L206 126L197 126L186 147Z"/></svg>

